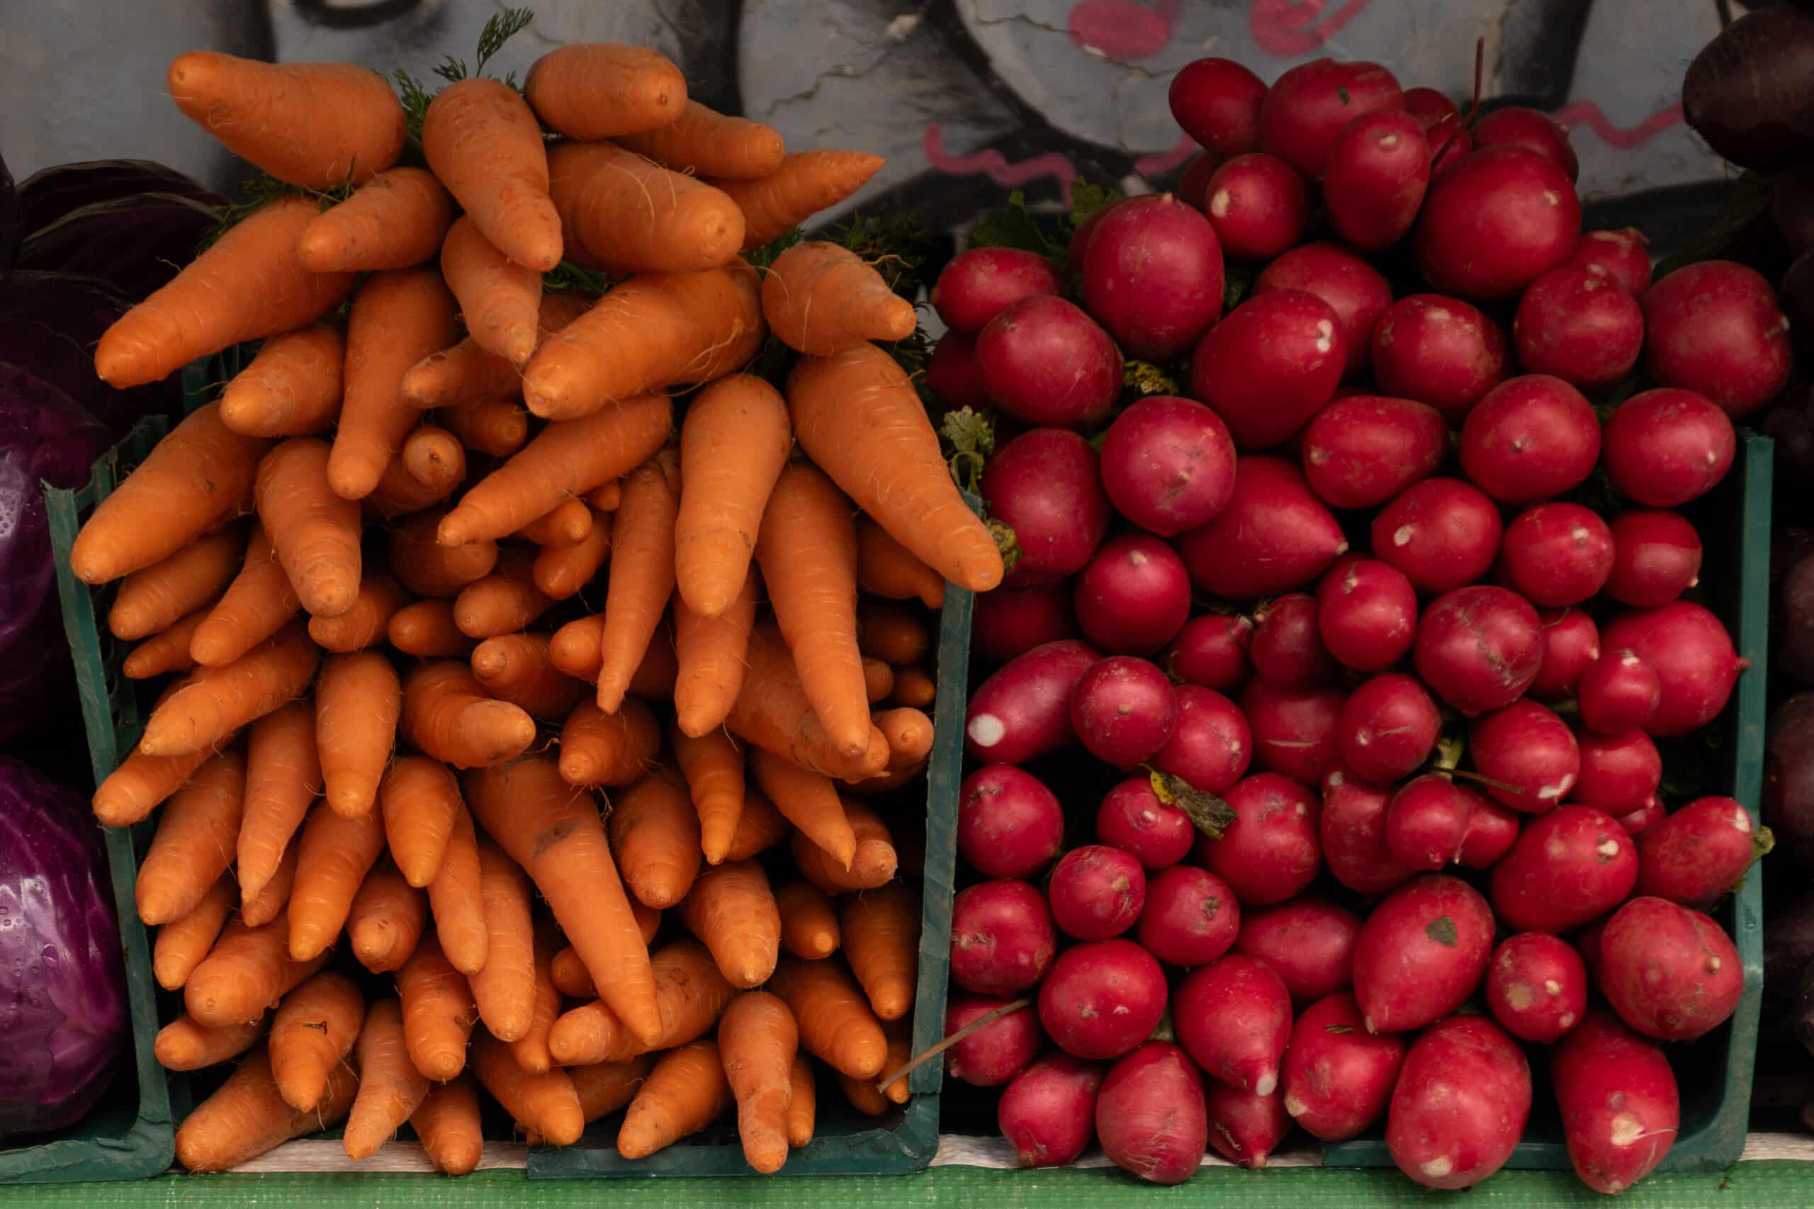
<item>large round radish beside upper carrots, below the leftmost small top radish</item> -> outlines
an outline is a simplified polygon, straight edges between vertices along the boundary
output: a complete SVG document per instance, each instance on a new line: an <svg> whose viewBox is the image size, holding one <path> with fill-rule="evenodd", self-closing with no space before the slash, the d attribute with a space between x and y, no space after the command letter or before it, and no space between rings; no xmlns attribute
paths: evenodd
<svg viewBox="0 0 1814 1209"><path fill-rule="evenodd" d="M1094 428L1121 394L1116 341L1052 294L1021 298L992 318L976 334L976 365L996 407L1030 425Z"/></svg>

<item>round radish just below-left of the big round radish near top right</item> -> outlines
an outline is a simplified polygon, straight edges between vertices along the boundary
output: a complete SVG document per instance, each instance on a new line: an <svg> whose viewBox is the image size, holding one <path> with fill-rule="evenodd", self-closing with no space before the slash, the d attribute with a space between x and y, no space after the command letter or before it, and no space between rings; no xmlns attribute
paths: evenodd
<svg viewBox="0 0 1814 1209"><path fill-rule="evenodd" d="M1506 334L1477 307L1442 294L1391 303L1373 329L1380 394L1417 399L1451 421L1511 372Z"/></svg>

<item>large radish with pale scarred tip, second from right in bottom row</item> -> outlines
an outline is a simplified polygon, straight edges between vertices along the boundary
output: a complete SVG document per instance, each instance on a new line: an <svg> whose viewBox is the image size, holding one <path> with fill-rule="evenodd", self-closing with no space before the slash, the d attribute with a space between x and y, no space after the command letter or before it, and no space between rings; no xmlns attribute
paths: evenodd
<svg viewBox="0 0 1814 1209"><path fill-rule="evenodd" d="M1506 1165L1531 1118L1531 1064L1482 1017L1451 1017L1404 1055L1386 1149L1424 1187L1473 1187Z"/></svg>

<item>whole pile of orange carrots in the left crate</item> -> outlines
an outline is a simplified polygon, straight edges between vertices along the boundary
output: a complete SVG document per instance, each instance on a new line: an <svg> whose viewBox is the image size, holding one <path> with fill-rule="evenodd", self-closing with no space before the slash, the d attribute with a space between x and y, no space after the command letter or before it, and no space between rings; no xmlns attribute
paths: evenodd
<svg viewBox="0 0 1814 1209"><path fill-rule="evenodd" d="M171 93L352 185L243 218L94 354L125 387L263 341L71 550L167 677L94 793L156 811L156 1051L236 1064L178 1158L345 1122L463 1173L483 1089L551 1145L624 1109L631 1158L735 1111L775 1171L814 1062L903 1102L922 908L876 795L931 752L929 610L1001 557L874 343L912 305L834 243L742 258L880 160L611 44L448 84L421 163L359 67L192 53Z"/></svg>

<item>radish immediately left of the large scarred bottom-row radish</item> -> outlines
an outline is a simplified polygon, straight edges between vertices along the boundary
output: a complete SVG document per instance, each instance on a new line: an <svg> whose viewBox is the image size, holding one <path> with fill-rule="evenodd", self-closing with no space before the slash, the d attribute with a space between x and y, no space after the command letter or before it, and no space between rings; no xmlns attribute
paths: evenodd
<svg viewBox="0 0 1814 1209"><path fill-rule="evenodd" d="M1368 1033L1353 995L1319 998L1292 1026L1284 1111L1319 1142L1346 1142L1386 1111L1402 1062L1404 1040Z"/></svg>

